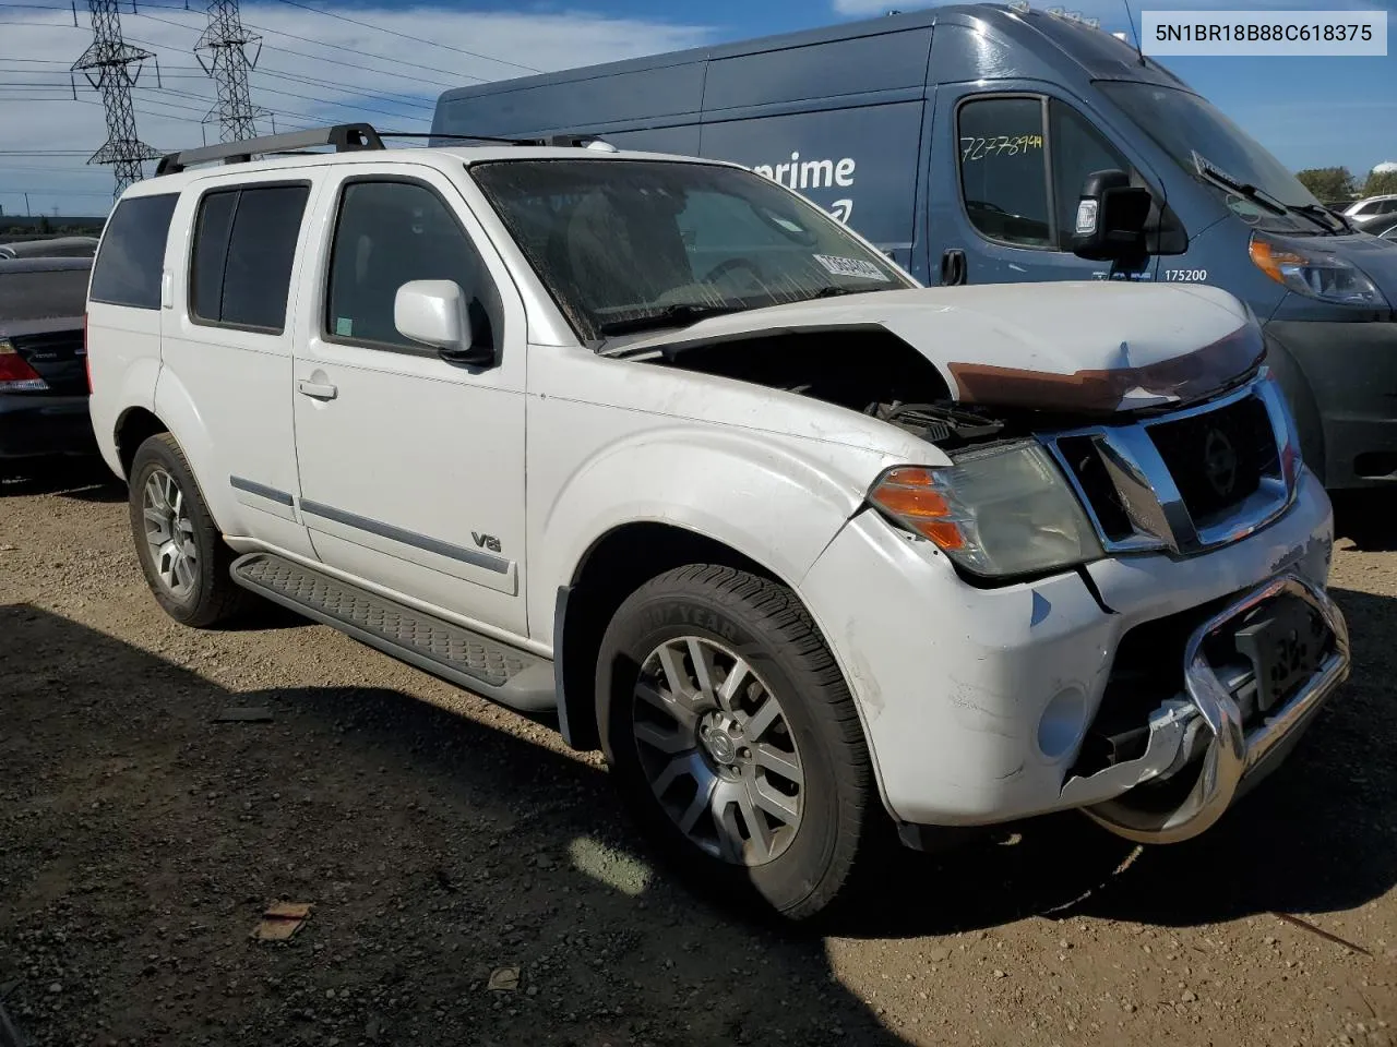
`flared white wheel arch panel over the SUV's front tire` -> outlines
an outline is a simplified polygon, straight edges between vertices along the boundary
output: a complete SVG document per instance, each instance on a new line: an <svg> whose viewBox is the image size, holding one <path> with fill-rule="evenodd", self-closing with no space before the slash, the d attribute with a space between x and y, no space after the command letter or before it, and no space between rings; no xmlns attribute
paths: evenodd
<svg viewBox="0 0 1397 1047"><path fill-rule="evenodd" d="M721 542L799 589L810 565L901 461L886 452L736 429L680 424L612 441L555 491L529 536L529 631L552 635L555 595L587 553L626 524L655 522ZM532 477L531 477L532 479Z"/></svg>

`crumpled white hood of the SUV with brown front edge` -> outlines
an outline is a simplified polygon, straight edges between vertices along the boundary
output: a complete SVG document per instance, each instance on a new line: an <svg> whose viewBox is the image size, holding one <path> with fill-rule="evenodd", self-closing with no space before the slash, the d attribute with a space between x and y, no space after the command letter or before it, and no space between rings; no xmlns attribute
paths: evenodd
<svg viewBox="0 0 1397 1047"><path fill-rule="evenodd" d="M1197 399L1263 353L1246 307L1217 288L1123 281L918 288L712 317L627 350L880 325L964 403L1115 412Z"/></svg>

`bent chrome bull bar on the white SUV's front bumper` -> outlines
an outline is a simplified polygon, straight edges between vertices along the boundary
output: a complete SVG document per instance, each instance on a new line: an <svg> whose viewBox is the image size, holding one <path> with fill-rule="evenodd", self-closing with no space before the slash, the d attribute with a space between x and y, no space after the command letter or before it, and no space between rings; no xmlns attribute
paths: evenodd
<svg viewBox="0 0 1397 1047"><path fill-rule="evenodd" d="M1323 620L1333 648L1295 694L1249 732L1234 688L1210 663L1204 641L1281 596L1292 596L1312 607ZM1324 699L1348 677L1348 628L1338 607L1319 586L1296 575L1284 575L1199 625L1183 659L1187 701L1161 709L1161 715L1151 719L1144 755L1090 778L1069 779L1062 790L1062 799L1076 807L1116 796L1122 787L1183 773L1185 765L1193 764L1194 738L1206 736L1201 766L1192 790L1178 805L1148 810L1123 799L1109 799L1085 807L1094 821L1137 843L1176 843L1197 836L1231 807L1243 780L1270 769L1267 757L1298 737Z"/></svg>

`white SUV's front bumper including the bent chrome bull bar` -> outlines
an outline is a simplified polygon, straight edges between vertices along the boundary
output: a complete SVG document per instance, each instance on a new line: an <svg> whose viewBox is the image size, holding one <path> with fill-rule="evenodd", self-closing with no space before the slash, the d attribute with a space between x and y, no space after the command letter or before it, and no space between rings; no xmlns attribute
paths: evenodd
<svg viewBox="0 0 1397 1047"><path fill-rule="evenodd" d="M1204 819L1215 819L1239 782L1260 775L1263 757L1282 755L1282 743L1299 733L1309 712L1343 678L1347 634L1323 595L1331 546L1329 498L1306 470L1291 508L1257 533L1194 557L1150 553L1102 560L1085 568L1090 586L1081 574L1063 572L975 588L956 575L932 543L912 539L875 514L859 514L799 591L854 692L884 805L897 821L975 826L1074 807L1112 817L1111 801L1151 773L1166 778L1178 771L1176 764L1187 762L1186 755L1203 755L1203 743L1221 738L1215 775L1199 797L1207 800L1199 819L1185 812L1173 824L1165 818L1165 825L1137 826L1182 838L1201 831ZM1333 631L1344 637L1344 669L1336 670L1337 677L1326 669L1305 694L1287 695L1270 709L1273 723L1255 737L1243 733L1239 743L1232 723L1241 718L1229 718L1231 706L1217 697L1227 687L1214 687L1201 669L1190 669L1189 681L1201 698L1189 692L1180 669L1183 638L1200 620L1225 613L1218 607L1232 607L1280 582L1298 585L1306 600L1324 609L1326 621L1334 616L1340 627ZM1144 757L1147 765L1073 785L1108 684L1119 681L1113 674L1123 638L1165 620L1187 620L1180 639L1160 649L1158 658L1180 676L1169 694L1178 698L1180 736L1192 730L1189 752L1180 757L1168 734L1161 734L1155 752ZM1204 705L1215 730L1190 727ZM1144 713L1139 723L1146 726ZM1241 768L1228 757L1238 752ZM1126 815L1115 817L1132 831Z"/></svg>

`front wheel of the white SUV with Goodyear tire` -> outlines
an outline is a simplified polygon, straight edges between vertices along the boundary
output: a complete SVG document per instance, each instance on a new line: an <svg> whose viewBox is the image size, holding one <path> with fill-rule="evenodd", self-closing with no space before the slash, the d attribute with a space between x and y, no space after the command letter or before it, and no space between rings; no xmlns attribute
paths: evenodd
<svg viewBox="0 0 1397 1047"><path fill-rule="evenodd" d="M597 695L616 785L679 872L791 920L835 899L868 835L873 775L795 593L729 567L654 578L606 630Z"/></svg>

